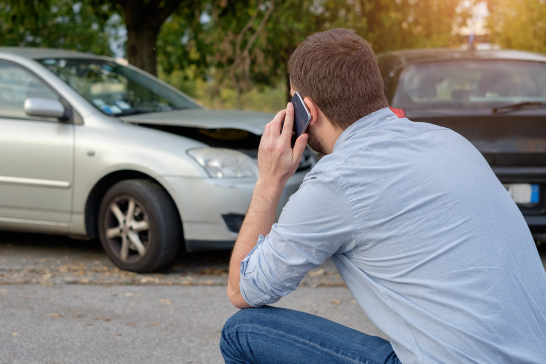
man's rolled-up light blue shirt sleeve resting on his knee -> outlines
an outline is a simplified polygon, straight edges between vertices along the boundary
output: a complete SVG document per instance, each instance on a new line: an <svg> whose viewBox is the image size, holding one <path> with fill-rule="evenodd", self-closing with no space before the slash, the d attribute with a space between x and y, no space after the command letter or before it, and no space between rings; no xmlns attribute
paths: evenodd
<svg viewBox="0 0 546 364"><path fill-rule="evenodd" d="M350 250L357 226L349 198L328 174L308 176L283 208L278 224L241 261L240 291L250 306L275 303L311 269Z"/></svg>

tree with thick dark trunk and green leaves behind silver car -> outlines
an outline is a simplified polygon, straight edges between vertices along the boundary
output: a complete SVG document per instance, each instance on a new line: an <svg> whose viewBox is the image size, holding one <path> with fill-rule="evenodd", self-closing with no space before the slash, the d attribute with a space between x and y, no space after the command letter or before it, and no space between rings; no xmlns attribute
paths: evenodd
<svg viewBox="0 0 546 364"><path fill-rule="evenodd" d="M156 74L157 34L177 9L198 0L0 0L0 42L112 55L110 42L127 30L129 63ZM183 12L180 11L182 14Z"/></svg>

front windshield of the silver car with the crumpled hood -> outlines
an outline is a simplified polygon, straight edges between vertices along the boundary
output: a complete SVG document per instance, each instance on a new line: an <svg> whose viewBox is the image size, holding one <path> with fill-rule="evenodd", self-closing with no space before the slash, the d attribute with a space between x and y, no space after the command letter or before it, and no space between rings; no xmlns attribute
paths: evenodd
<svg viewBox="0 0 546 364"><path fill-rule="evenodd" d="M116 62L92 58L45 58L37 61L106 115L200 108L182 92Z"/></svg>

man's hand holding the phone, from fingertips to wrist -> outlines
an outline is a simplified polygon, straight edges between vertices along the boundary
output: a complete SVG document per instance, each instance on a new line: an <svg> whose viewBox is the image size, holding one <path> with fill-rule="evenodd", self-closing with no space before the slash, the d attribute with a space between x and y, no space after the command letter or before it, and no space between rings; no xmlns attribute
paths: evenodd
<svg viewBox="0 0 546 364"><path fill-rule="evenodd" d="M283 121L284 120L284 125ZM282 130L281 130L281 125ZM258 179L268 185L284 188L284 184L296 172L307 143L307 134L301 134L294 149L290 146L294 125L294 105L289 102L275 118L265 126L258 151Z"/></svg>

